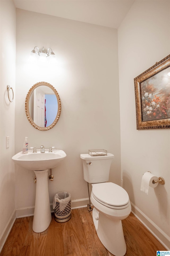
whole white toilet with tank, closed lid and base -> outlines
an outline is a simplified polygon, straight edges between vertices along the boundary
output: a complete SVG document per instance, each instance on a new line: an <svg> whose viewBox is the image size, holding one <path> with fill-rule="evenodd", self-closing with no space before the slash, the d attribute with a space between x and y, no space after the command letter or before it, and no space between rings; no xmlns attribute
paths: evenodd
<svg viewBox="0 0 170 256"><path fill-rule="evenodd" d="M81 154L84 180L92 184L93 222L100 241L115 256L124 256L126 243L122 222L131 212L128 193L120 186L106 182L114 155Z"/></svg>

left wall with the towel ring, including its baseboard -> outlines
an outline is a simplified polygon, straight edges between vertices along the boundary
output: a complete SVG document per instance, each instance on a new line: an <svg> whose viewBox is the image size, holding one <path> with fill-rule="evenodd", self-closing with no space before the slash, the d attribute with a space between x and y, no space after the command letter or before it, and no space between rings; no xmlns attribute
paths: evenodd
<svg viewBox="0 0 170 256"><path fill-rule="evenodd" d="M15 170L11 157L15 147L15 54L16 11L13 1L0 1L1 66L0 66L0 249L8 227L15 218ZM9 102L7 85L14 90ZM11 95L11 94L10 94ZM12 96L12 95L11 95ZM10 146L6 148L6 136Z"/></svg>

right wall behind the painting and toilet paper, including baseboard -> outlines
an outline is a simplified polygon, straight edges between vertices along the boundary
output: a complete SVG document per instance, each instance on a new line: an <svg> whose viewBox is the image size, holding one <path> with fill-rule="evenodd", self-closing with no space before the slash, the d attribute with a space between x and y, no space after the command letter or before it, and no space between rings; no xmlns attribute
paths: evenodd
<svg viewBox="0 0 170 256"><path fill-rule="evenodd" d="M170 1L135 1L118 29L123 187L133 211L170 248L170 131L136 129L134 94L134 78L169 53ZM147 171L165 179L148 195L140 191Z"/></svg>

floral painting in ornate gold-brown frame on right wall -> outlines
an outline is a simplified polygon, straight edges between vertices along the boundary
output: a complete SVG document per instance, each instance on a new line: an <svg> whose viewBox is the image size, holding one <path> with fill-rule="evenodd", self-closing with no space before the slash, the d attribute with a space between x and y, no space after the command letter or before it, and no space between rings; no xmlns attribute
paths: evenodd
<svg viewBox="0 0 170 256"><path fill-rule="evenodd" d="M170 128L170 55L134 78L137 130Z"/></svg>

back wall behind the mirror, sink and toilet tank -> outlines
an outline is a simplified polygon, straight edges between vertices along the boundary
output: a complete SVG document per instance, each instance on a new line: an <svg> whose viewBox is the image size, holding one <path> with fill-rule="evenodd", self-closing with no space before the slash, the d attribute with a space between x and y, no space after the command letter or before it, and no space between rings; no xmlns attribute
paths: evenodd
<svg viewBox="0 0 170 256"><path fill-rule="evenodd" d="M66 152L66 159L52 170L50 203L63 190L72 200L88 197L80 159L88 149L106 149L114 154L110 180L120 184L117 30L20 9L16 24L15 153L22 150L25 136L29 147L55 146ZM29 63L35 46L51 47L57 65ZM41 81L52 84L61 98L60 119L49 131L38 131L25 115L25 97L31 86ZM18 166L15 172L16 209L34 206L34 172Z"/></svg>

